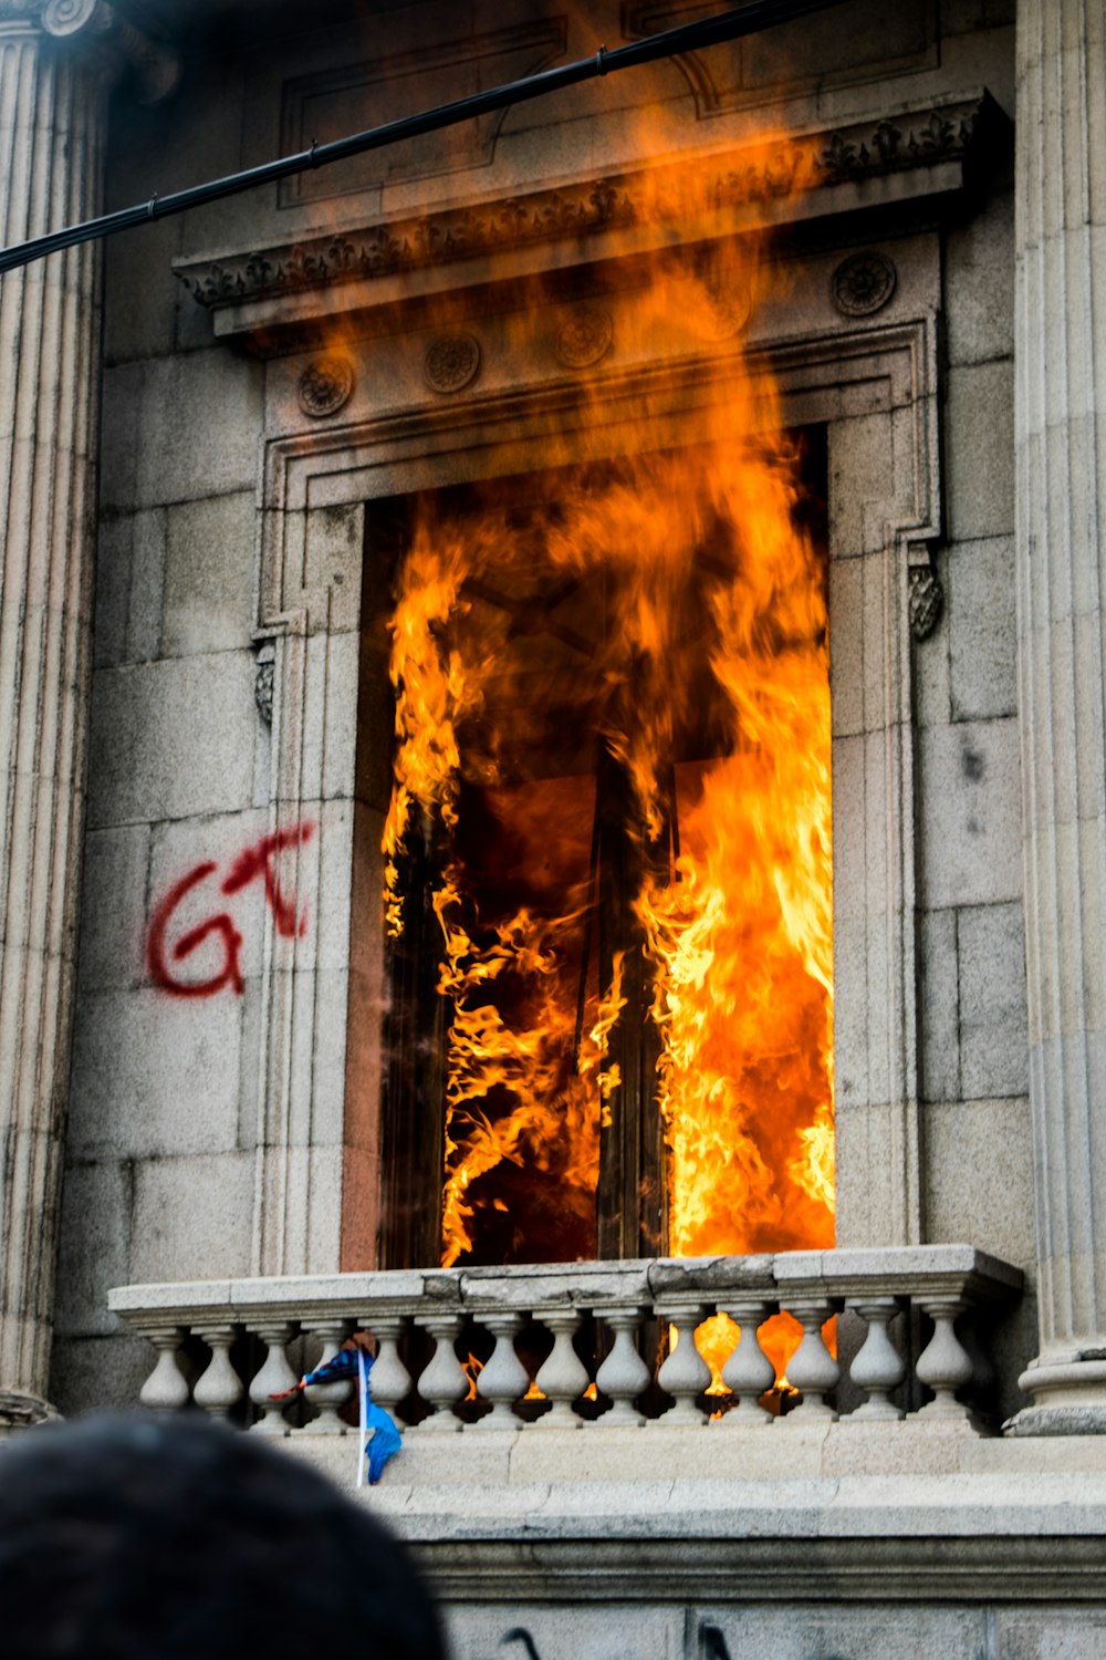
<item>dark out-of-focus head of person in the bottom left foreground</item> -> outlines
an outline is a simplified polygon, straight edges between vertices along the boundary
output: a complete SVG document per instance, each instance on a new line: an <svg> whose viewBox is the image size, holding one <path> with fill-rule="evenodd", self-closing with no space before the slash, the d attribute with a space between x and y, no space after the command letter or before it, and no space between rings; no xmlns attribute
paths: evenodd
<svg viewBox="0 0 1106 1660"><path fill-rule="evenodd" d="M0 1451L0 1652L446 1653L406 1550L361 1504L293 1454L192 1414L48 1424Z"/></svg>

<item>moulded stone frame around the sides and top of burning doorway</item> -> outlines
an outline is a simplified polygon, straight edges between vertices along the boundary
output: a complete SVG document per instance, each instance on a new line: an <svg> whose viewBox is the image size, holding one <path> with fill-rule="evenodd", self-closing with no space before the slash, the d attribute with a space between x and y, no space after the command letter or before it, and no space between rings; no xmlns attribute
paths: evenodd
<svg viewBox="0 0 1106 1660"><path fill-rule="evenodd" d="M829 302L836 257L804 262L801 292L746 357L773 364L788 425L829 430L839 1242L905 1245L922 1215L910 601L932 591L940 528L940 252L934 234L897 246L890 304L844 320ZM547 327L537 317L536 339ZM370 1267L376 1250L378 1097L350 1086L358 1067L371 1082L383 998L373 950L352 933L355 896L378 876L353 777L361 581L383 574L363 554L365 501L494 476L506 432L511 470L539 468L551 423L580 425L579 382L551 382L517 342L509 387L478 382L448 403L413 388L410 407L385 415L366 393L327 430L302 430L302 365L275 365L270 387L257 639L275 659L270 823L317 818L297 881L308 901L323 878L330 890L318 930L287 943L270 926L265 941L254 1228L264 1273ZM725 375L718 349L612 365L589 387L589 418L612 455L640 447L628 435L642 407L657 412L657 445L695 442L696 410Z"/></svg>

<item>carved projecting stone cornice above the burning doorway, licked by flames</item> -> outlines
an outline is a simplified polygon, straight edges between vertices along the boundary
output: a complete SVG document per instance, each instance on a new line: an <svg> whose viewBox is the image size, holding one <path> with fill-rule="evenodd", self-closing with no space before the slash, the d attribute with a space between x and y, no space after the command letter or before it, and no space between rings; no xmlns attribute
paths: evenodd
<svg viewBox="0 0 1106 1660"><path fill-rule="evenodd" d="M879 181L895 178L909 181L902 194L947 191L963 183L967 163L990 151L1007 129L1005 115L982 93L776 146L735 149L695 169L675 163L580 179L219 259L177 259L174 271L201 305L221 310L645 224L693 224L711 216L740 229L735 216L745 226L781 221L789 204L796 204L796 217L809 216L811 199L821 194L834 198L816 204L814 211L824 212L894 199L894 191L880 193ZM934 178L919 178L927 173ZM854 188L847 204L837 199L841 188Z"/></svg>

